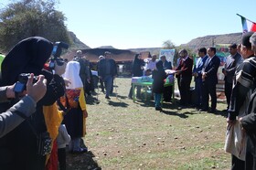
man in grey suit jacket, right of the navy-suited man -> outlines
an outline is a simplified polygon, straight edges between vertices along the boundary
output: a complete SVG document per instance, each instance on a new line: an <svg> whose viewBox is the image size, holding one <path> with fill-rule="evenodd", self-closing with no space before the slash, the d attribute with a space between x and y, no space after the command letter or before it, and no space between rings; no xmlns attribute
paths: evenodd
<svg viewBox="0 0 256 170"><path fill-rule="evenodd" d="M226 63L224 65L224 68L222 69L222 73L225 75L225 96L227 99L227 110L229 109L229 102L230 102L230 96L232 91L232 83L233 83L233 77L235 74L235 70L238 65L242 62L242 58L240 56L240 53L237 52L237 45L232 44L229 46L229 53L230 55L226 59Z"/></svg>

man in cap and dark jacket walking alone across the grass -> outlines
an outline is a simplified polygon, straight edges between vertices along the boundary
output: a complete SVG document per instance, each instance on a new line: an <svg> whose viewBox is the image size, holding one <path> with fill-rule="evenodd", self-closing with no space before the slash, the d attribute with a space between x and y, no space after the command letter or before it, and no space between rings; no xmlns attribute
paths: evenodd
<svg viewBox="0 0 256 170"><path fill-rule="evenodd" d="M106 51L104 53L104 57L99 62L98 75L101 80L104 81L106 88L106 96L107 100L110 100L110 93L113 86L113 79L117 75L117 68L115 61L111 58L112 53Z"/></svg>

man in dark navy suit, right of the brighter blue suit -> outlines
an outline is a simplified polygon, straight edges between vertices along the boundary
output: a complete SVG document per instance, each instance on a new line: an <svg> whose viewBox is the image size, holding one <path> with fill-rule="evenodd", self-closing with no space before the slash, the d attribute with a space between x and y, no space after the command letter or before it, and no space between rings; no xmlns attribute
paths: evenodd
<svg viewBox="0 0 256 170"><path fill-rule="evenodd" d="M216 111L217 95L216 84L218 83L217 72L219 69L220 59L216 56L216 48L208 48L208 59L202 69L202 109L199 111L208 111L208 95L211 98L211 110Z"/></svg>

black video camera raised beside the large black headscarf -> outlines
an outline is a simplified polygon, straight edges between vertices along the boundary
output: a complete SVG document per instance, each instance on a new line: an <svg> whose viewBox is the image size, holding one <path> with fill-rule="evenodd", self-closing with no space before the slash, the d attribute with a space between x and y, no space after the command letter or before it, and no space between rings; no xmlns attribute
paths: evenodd
<svg viewBox="0 0 256 170"><path fill-rule="evenodd" d="M52 57L49 59L49 63L48 63L49 69L55 68L54 61L56 61L59 66L62 66L64 64L65 61L62 58L59 58L61 55L62 48L68 49L69 45L64 42L55 42L54 43L54 46L53 46L52 52L51 52Z"/></svg>

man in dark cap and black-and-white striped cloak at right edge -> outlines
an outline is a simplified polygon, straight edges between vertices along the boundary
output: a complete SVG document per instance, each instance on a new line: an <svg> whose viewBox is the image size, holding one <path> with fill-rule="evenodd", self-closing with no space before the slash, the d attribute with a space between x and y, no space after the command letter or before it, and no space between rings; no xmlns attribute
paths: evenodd
<svg viewBox="0 0 256 170"><path fill-rule="evenodd" d="M251 96L253 96L251 95L252 91L256 86L256 58L254 57L254 52L251 50L251 43L249 41L252 34L252 32L249 32L242 36L240 54L244 60L235 71L235 79L233 80L233 89L229 103L229 114L227 118L227 122L229 123L228 127L230 127L229 129L231 129L232 126L241 125L246 133L244 133L242 129L240 132L242 135L247 135L247 142L242 142L246 140L245 137L233 139L234 143L241 143L242 145L240 145L239 148L236 148L235 146L232 147L233 149L229 152L232 155L232 169L256 168L256 160L254 157L256 154L254 145L256 140L255 129L253 129L253 126L255 127L255 121L253 121L255 118L253 113L250 113L251 106L249 103ZM254 110L252 110L252 112L254 112ZM227 134L229 135L229 132ZM244 150L240 149L245 148L245 146L246 155ZM239 153L235 152L239 149ZM254 167L252 167L252 164Z"/></svg>

